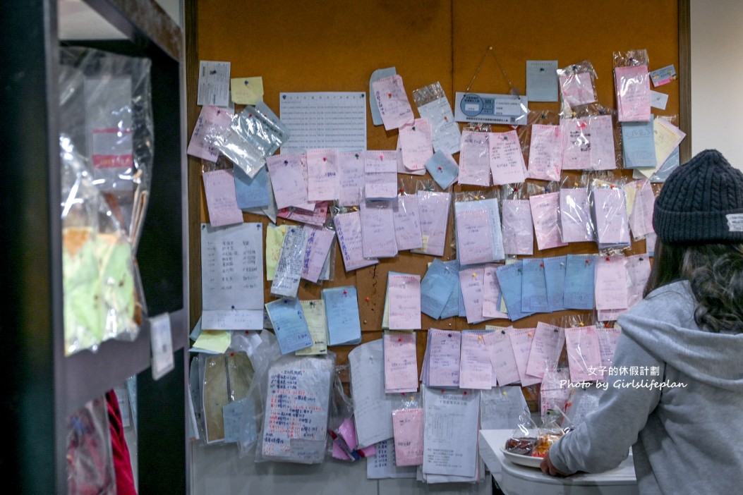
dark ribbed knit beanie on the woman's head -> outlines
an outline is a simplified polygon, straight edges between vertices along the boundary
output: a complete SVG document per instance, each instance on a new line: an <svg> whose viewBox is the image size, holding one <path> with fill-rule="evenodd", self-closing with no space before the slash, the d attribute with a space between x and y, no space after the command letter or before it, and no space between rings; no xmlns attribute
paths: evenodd
<svg viewBox="0 0 743 495"><path fill-rule="evenodd" d="M743 241L743 172L704 150L663 184L652 215L663 243Z"/></svg>

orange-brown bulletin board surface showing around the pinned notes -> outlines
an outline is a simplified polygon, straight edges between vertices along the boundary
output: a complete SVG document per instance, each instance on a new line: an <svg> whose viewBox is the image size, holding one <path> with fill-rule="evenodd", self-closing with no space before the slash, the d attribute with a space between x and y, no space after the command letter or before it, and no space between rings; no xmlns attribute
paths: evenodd
<svg viewBox="0 0 743 495"><path fill-rule="evenodd" d="M589 60L597 73L598 102L615 108L614 51L644 48L652 71L666 65L679 70L679 3L677 0L646 2L553 2L540 0L325 0L237 1L199 0L195 24L198 48L190 59L231 62L232 77L262 76L264 101L279 114L279 93L303 91L366 91L369 77L379 68L395 67L412 102L412 91L439 82L450 104L455 91L507 94L511 86L525 94L527 60L557 60L558 67ZM194 33L191 34L192 39ZM492 47L492 49L490 49ZM474 77L473 79L473 76ZM194 94L196 73L189 71L189 93ZM509 83L510 81L510 83ZM668 95L666 109L657 115L679 114L679 82L655 91ZM531 110L559 111L559 103L530 102ZM413 105L415 111L415 105ZM240 109L239 107L237 108ZM189 101L189 129L199 107ZM415 112L418 117L417 112ZM461 127L461 125L460 125ZM491 131L509 131L493 125ZM398 131L374 126L367 105L367 148L394 150ZM687 138L688 139L688 138ZM458 154L455 155L458 160ZM201 163L190 160L190 242L192 321L201 313L201 269L198 223L208 222L201 186ZM614 171L631 177L632 171ZM539 181L536 181L539 182ZM471 186L453 186L461 191ZM200 194L195 191L198 189ZM270 220L244 214L246 222ZM277 223L291 223L278 219ZM264 229L265 232L266 229ZM452 223L447 236L453 240ZM338 249L337 246L335 249ZM535 258L597 252L595 243L571 243L539 251ZM632 244L631 252L646 252L645 241ZM340 252L335 258L333 281L322 285L302 281L299 299L319 299L329 286L357 287L363 341L382 337L381 321L389 271L421 275L432 256L400 252L395 258L354 272L345 272ZM452 249L441 260L452 259ZM270 282L265 301L272 301ZM588 312L590 313L590 312ZM568 312L565 312L568 314ZM551 322L562 314L540 313L516 321L517 328L531 328L537 321ZM468 325L465 318L434 320L421 315L418 332L419 369L426 348L426 330L507 327L508 320ZM338 364L348 363L351 346L331 347Z"/></svg>

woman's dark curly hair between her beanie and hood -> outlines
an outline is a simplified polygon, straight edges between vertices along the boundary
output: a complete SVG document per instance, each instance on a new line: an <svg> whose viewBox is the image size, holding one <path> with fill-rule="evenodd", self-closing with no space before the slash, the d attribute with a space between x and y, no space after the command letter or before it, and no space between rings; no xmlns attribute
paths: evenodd
<svg viewBox="0 0 743 495"><path fill-rule="evenodd" d="M694 321L710 332L743 332L743 244L655 244L644 295L679 280L697 301Z"/></svg>

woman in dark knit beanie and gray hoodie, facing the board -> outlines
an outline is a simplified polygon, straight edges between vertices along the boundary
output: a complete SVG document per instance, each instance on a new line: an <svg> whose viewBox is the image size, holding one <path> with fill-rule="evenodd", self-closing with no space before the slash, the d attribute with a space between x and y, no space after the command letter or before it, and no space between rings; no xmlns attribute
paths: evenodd
<svg viewBox="0 0 743 495"><path fill-rule="evenodd" d="M640 494L740 493L743 173L702 151L666 180L653 226L645 298L617 321L613 364L630 373L609 376L598 410L552 445L542 471L606 471L632 447Z"/></svg>

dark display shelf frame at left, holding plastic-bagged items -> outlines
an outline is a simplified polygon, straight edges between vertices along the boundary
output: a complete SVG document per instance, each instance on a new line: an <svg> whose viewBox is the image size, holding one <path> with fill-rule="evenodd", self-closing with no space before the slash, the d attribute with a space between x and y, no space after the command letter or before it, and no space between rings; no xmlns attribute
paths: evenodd
<svg viewBox="0 0 743 495"><path fill-rule="evenodd" d="M1 450L10 491L65 494L68 415L137 376L140 494L188 493L188 271L184 36L154 0L4 0L0 131L5 340ZM64 38L64 39L62 39ZM59 46L152 61L154 157L137 263L146 313L134 341L65 356L62 294ZM149 318L169 315L175 369L152 378Z"/></svg>

